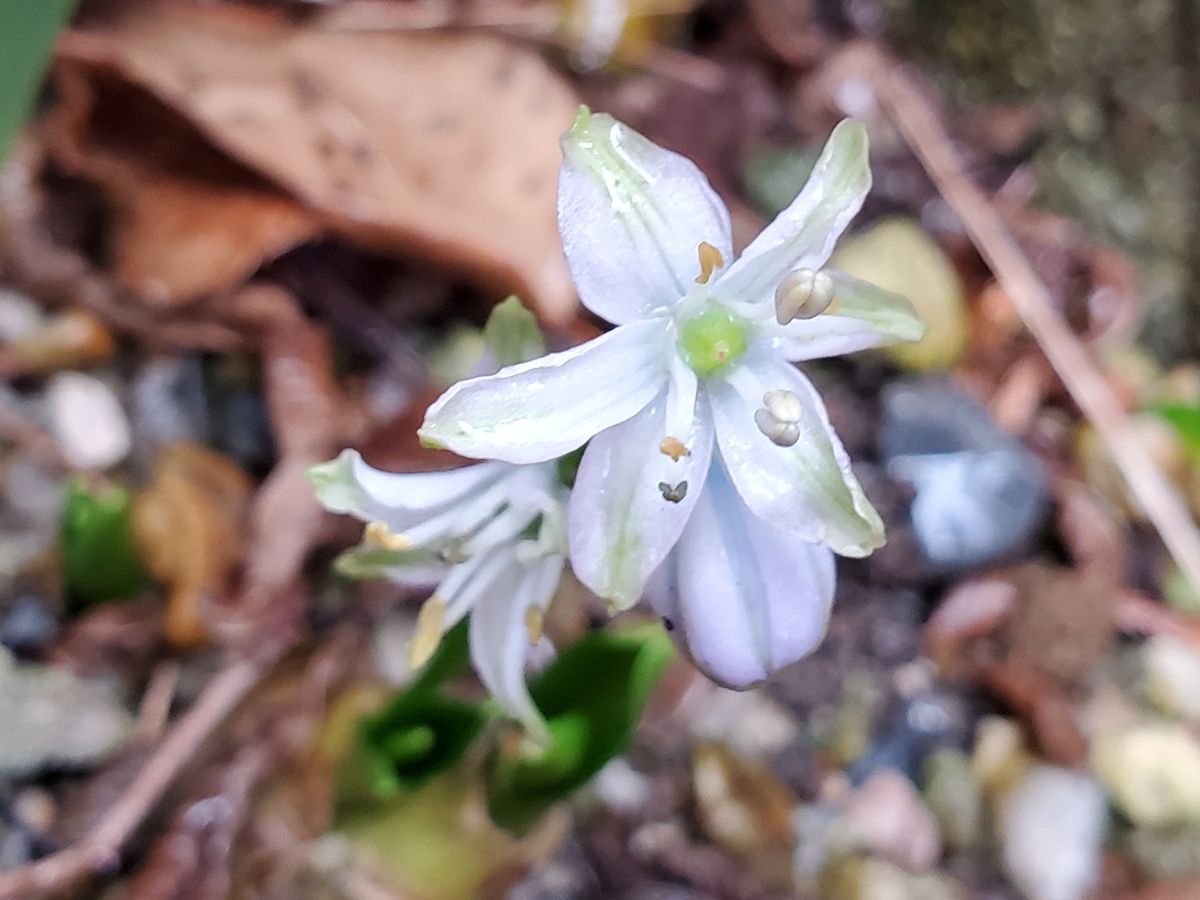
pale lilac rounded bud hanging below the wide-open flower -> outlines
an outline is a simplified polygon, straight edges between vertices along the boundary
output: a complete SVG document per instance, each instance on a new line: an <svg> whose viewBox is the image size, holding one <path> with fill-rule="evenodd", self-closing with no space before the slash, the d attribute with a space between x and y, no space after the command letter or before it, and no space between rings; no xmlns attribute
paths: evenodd
<svg viewBox="0 0 1200 900"><path fill-rule="evenodd" d="M676 643L737 690L810 653L833 595L833 553L754 516L719 462L676 551L647 586Z"/></svg>

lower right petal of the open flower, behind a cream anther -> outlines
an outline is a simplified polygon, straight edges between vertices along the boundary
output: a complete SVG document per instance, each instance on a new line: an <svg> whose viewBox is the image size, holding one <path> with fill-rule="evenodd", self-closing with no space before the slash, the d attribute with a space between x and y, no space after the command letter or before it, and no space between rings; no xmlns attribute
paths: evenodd
<svg viewBox="0 0 1200 900"><path fill-rule="evenodd" d="M792 446L772 443L755 424L763 394L776 389L800 401L800 438ZM755 515L842 556L882 546L883 522L851 472L821 396L794 366L748 353L731 376L710 382L709 400L721 458Z"/></svg>

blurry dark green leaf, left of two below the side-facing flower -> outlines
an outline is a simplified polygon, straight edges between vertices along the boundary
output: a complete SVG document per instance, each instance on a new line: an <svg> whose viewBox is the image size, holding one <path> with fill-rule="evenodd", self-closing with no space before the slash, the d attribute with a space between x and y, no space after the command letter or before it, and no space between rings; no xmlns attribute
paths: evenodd
<svg viewBox="0 0 1200 900"><path fill-rule="evenodd" d="M478 703L424 686L400 692L359 722L337 769L338 808L360 806L420 787L456 766L487 721Z"/></svg>

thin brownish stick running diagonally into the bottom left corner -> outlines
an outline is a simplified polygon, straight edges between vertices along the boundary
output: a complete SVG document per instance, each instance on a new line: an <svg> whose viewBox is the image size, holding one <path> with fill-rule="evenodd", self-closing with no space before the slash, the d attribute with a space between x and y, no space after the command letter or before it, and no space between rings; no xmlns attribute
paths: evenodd
<svg viewBox="0 0 1200 900"><path fill-rule="evenodd" d="M259 664L238 661L220 672L163 739L154 756L108 814L65 850L36 863L0 872L0 898L28 900L61 890L90 875L115 869L121 848L200 744L241 702L263 673Z"/></svg>

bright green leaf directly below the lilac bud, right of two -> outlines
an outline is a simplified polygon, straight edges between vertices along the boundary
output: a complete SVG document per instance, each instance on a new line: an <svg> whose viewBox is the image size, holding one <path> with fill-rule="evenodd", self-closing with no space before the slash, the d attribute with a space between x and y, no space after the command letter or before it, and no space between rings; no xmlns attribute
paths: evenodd
<svg viewBox="0 0 1200 900"><path fill-rule="evenodd" d="M620 754L673 655L658 625L593 631L539 674L529 692L551 740L497 751L488 772L496 823L524 832Z"/></svg>

